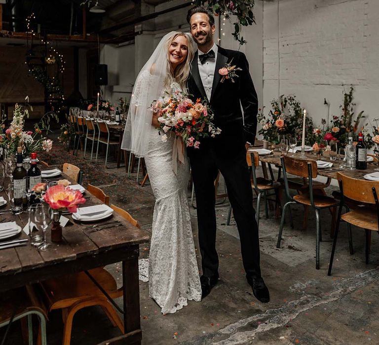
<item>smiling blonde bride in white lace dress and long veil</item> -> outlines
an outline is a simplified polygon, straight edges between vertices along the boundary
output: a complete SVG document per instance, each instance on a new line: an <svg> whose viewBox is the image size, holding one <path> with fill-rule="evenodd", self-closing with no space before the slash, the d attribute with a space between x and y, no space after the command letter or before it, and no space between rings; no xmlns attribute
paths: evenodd
<svg viewBox="0 0 379 345"><path fill-rule="evenodd" d="M121 148L145 157L155 206L149 257L149 295L163 314L201 300L201 286L187 201L189 162L177 162L176 140L163 142L151 104L167 92L186 91L192 37L165 35L136 79ZM184 150L185 151L185 150ZM173 158L174 157L174 158Z"/></svg>

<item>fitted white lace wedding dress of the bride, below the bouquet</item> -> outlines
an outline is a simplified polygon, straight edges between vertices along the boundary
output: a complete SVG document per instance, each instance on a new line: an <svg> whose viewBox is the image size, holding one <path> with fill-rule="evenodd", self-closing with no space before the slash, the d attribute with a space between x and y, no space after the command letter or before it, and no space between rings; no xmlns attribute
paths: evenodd
<svg viewBox="0 0 379 345"><path fill-rule="evenodd" d="M162 308L173 313L200 302L201 285L196 262L187 200L189 161L177 162L172 169L174 136L166 142L151 128L146 167L155 196L152 239L149 256L149 295Z"/></svg>

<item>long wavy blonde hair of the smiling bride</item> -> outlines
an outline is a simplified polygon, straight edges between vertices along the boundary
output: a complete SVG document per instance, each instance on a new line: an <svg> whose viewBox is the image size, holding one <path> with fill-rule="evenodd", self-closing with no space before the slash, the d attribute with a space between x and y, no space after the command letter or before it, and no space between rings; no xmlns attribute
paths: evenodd
<svg viewBox="0 0 379 345"><path fill-rule="evenodd" d="M179 64L174 71L172 71L168 48L170 47L172 41L178 36L186 37L186 40L188 43L188 53L187 53L186 60L184 60L181 64ZM180 85L182 90L186 90L186 81L189 77L189 69L190 69L191 61L194 55L192 37L185 33L174 33L171 37L168 38L165 47L167 50L168 63L167 63L166 78L164 80L164 88L166 90L169 90L171 83L173 81L176 81Z"/></svg>

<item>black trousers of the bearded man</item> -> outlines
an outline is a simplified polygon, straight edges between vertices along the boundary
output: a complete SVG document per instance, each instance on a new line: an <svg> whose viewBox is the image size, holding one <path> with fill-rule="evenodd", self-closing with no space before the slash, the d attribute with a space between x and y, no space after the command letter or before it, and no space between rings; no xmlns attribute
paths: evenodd
<svg viewBox="0 0 379 345"><path fill-rule="evenodd" d="M204 140L199 149L189 150L189 159L196 193L203 275L214 276L219 268L214 181L220 170L226 181L228 198L237 223L246 275L261 276L258 225L242 127L231 126L218 137Z"/></svg>

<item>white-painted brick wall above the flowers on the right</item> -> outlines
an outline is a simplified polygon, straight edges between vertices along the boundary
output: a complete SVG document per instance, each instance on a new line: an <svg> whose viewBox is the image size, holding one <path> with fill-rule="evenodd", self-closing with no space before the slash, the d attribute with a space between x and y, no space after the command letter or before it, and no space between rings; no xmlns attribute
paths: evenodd
<svg viewBox="0 0 379 345"><path fill-rule="evenodd" d="M265 106L293 93L320 123L324 98L340 114L341 84L353 84L357 112L378 116L378 0L280 0L279 16L277 1L263 5Z"/></svg>

